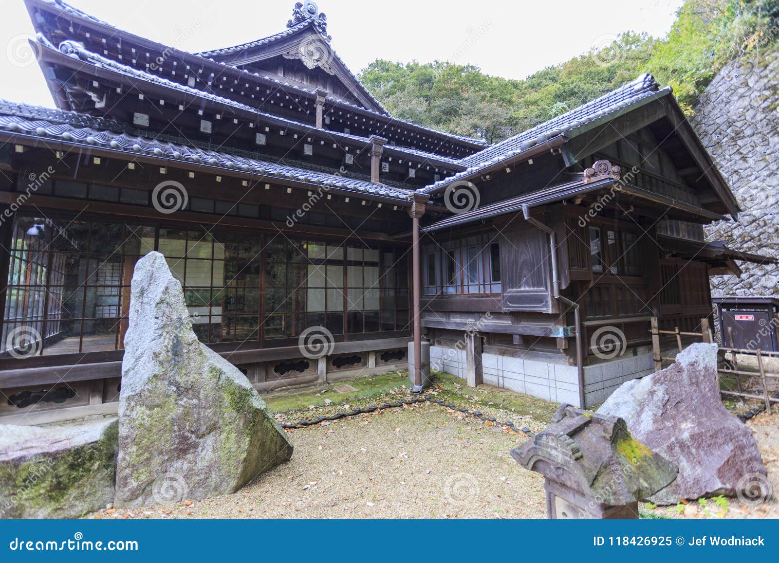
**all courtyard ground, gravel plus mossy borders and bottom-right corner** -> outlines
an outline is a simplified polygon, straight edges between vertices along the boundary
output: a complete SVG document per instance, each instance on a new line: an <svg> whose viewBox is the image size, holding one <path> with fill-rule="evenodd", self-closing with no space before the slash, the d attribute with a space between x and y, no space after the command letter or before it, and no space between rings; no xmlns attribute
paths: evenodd
<svg viewBox="0 0 779 563"><path fill-rule="evenodd" d="M408 398L404 377L355 380L351 394L312 388L267 396L277 420L327 416L350 406ZM538 432L556 405L491 389L468 389L439 377L429 394L516 428ZM332 399L330 399L332 397ZM756 505L730 498L668 507L642 503L646 518L779 517L779 412L749 420L774 498ZM234 494L146 508L113 509L90 518L545 518L543 479L523 470L509 451L527 440L521 431L495 426L432 403L380 410L287 431L290 462L260 475Z"/></svg>

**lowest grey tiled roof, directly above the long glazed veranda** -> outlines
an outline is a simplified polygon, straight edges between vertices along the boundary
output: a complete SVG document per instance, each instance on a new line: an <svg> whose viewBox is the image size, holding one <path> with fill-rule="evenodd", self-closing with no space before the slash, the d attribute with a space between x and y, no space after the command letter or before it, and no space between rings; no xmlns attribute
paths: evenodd
<svg viewBox="0 0 779 563"><path fill-rule="evenodd" d="M121 126L118 121L90 118L76 112L51 110L13 104L0 100L0 132L30 135L39 139L65 141L84 146L100 146L124 153L180 160L191 164L245 171L268 178L287 178L313 185L347 189L369 195L407 200L411 190L405 191L368 180L340 176L335 173L312 171L298 166L239 156L234 153L210 150L192 144L172 143L143 135L112 131ZM174 166L174 164L171 164Z"/></svg>

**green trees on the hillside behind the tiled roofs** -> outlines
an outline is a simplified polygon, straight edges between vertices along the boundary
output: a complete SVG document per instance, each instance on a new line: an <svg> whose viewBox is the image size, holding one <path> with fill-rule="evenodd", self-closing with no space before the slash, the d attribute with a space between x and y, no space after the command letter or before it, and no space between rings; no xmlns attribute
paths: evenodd
<svg viewBox="0 0 779 563"><path fill-rule="evenodd" d="M779 0L686 0L667 37L626 31L612 44L523 80L474 65L377 59L361 80L396 117L494 143L650 72L692 107L722 65L779 40Z"/></svg>

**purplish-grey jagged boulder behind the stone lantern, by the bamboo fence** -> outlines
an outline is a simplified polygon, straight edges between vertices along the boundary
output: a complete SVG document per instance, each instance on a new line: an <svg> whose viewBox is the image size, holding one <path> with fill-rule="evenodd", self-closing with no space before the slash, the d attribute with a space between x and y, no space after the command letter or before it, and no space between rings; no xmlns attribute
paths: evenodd
<svg viewBox="0 0 779 563"><path fill-rule="evenodd" d="M690 345L670 367L623 383L597 412L622 418L633 438L679 466L652 501L754 494L749 476L766 475L752 432L722 404L717 344Z"/></svg>

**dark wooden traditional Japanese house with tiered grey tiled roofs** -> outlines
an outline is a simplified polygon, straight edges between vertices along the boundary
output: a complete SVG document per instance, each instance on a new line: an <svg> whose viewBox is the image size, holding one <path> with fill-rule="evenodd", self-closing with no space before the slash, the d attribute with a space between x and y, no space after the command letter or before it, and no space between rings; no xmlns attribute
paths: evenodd
<svg viewBox="0 0 779 563"><path fill-rule="evenodd" d="M694 325L710 274L766 260L703 241L738 206L651 76L486 146L393 118L313 2L196 54L26 5L57 109L0 101L2 421L115 412L151 250L257 389L405 368L424 331L435 367L574 405L650 368L650 316Z"/></svg>

